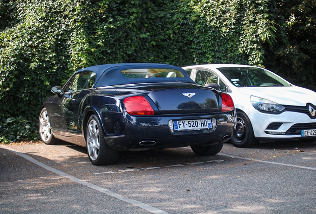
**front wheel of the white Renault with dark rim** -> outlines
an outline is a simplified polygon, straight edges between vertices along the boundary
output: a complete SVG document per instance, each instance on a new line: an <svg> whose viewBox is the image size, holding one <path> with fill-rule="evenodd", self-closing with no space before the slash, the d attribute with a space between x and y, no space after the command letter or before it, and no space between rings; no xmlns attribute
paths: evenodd
<svg viewBox="0 0 316 214"><path fill-rule="evenodd" d="M237 111L236 129L229 141L241 148L251 147L258 142L254 137L249 117L242 111Z"/></svg>

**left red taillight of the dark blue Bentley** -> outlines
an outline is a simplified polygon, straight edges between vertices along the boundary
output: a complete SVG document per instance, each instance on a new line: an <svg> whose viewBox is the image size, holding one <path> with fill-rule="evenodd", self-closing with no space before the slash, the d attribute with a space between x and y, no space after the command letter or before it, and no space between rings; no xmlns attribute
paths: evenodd
<svg viewBox="0 0 316 214"><path fill-rule="evenodd" d="M154 109L142 96L128 97L124 99L127 113L131 115L153 115Z"/></svg>

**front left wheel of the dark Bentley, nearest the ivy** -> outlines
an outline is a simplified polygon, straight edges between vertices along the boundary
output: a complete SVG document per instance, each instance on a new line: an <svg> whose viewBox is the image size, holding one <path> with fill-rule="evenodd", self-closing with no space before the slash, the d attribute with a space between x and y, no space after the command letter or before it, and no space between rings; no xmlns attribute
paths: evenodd
<svg viewBox="0 0 316 214"><path fill-rule="evenodd" d="M38 131L41 137L41 140L44 144L53 145L60 140L56 139L51 130L51 123L49 122L49 117L46 108L41 110L39 119L38 119Z"/></svg>

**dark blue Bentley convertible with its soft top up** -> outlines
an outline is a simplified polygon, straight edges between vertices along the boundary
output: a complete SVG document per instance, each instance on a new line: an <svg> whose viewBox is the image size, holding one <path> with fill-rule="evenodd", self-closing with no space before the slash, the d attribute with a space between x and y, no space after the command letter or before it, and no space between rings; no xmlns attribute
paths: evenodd
<svg viewBox="0 0 316 214"><path fill-rule="evenodd" d="M124 150L191 146L197 155L215 155L236 124L228 94L197 85L172 65L91 66L52 92L39 116L41 139L86 147L94 165L111 164Z"/></svg>

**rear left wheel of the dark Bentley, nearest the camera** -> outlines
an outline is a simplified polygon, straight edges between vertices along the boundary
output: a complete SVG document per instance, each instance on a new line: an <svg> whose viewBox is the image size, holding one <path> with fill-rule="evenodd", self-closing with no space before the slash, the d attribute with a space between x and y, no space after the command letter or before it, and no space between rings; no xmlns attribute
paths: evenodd
<svg viewBox="0 0 316 214"><path fill-rule="evenodd" d="M93 165L108 165L118 158L118 151L109 148L99 118L92 114L86 126L86 150Z"/></svg>

